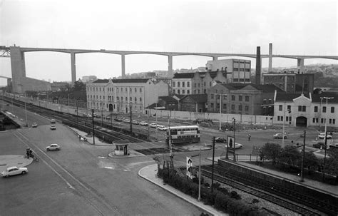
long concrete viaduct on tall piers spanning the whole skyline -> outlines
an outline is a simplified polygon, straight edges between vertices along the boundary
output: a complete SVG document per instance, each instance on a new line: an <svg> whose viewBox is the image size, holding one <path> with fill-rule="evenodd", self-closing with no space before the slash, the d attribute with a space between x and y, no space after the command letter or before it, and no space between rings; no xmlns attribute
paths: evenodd
<svg viewBox="0 0 338 216"><path fill-rule="evenodd" d="M24 48L20 46L0 46L0 57L11 58L11 73L13 78L13 84L17 77L26 77L26 67L24 53L37 52L37 51L52 51L71 54L71 81L76 81L76 54L79 53L110 53L121 56L121 68L122 77L126 76L126 55L134 54L153 54L160 56L168 56L168 75L173 76L173 56L207 56L212 60L217 60L220 57L238 56L247 58L256 58L256 54L242 54L242 53L186 53L186 52L156 52L156 51L110 51L105 49L100 50L88 50L88 49L66 49L66 48ZM338 60L338 56L299 56L299 55L272 55L272 43L269 44L269 54L260 55L260 61L262 58L269 58L269 71L272 71L272 58L294 58L297 59L297 66L299 71L303 71L304 59L306 58L327 58ZM13 86L13 87L14 87ZM14 87L15 88L15 87Z"/></svg>

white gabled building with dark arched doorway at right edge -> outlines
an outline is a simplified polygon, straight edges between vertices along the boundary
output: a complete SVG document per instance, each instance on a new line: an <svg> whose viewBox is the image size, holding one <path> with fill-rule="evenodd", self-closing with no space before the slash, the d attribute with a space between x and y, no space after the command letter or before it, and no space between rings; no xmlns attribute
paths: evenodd
<svg viewBox="0 0 338 216"><path fill-rule="evenodd" d="M326 99L327 100L326 105ZM294 126L338 128L338 95L332 93L275 93L274 120Z"/></svg>

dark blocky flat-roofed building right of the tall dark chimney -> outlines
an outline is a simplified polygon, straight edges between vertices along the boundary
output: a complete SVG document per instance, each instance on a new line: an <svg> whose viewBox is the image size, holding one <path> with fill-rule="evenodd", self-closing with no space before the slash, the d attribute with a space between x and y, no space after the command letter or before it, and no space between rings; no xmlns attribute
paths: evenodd
<svg viewBox="0 0 338 216"><path fill-rule="evenodd" d="M265 73L262 84L274 84L287 93L309 93L314 89L313 73Z"/></svg>

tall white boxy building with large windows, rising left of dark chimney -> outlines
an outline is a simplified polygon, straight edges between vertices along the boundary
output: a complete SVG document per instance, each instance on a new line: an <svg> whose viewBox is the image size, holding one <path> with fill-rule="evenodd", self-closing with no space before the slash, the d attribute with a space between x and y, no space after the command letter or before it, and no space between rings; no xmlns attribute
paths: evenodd
<svg viewBox="0 0 338 216"><path fill-rule="evenodd" d="M227 83L250 83L251 61L244 59L221 59L208 61L206 71L225 71Z"/></svg>

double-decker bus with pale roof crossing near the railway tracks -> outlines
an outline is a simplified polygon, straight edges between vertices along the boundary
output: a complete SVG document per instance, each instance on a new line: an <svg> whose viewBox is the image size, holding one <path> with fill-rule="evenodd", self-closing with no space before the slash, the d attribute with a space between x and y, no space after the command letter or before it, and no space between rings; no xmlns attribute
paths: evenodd
<svg viewBox="0 0 338 216"><path fill-rule="evenodd" d="M170 126L167 130L167 135L169 136L169 134L173 144L200 142L200 128L198 128L198 125Z"/></svg>

